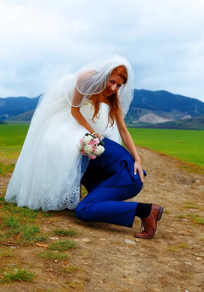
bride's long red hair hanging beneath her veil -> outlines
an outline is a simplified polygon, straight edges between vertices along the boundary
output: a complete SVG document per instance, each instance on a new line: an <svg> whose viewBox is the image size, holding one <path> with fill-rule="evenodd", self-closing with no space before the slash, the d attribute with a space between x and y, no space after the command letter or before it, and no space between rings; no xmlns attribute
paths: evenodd
<svg viewBox="0 0 204 292"><path fill-rule="evenodd" d="M123 82L124 85L127 83L128 73L127 73L127 69L125 66L120 65L120 66L114 68L113 71L111 72L111 74L112 73L117 74L120 77L122 77L124 79L124 82ZM92 107L94 108L94 114L92 117L93 123L95 123L94 118L97 118L97 119L100 118L99 110L100 110L100 105L103 101L104 101L103 91L99 94L93 95L93 99L92 99ZM110 127L112 127L114 122L115 122L117 110L119 108L118 93L113 93L112 95L110 95L108 97L108 105L109 105L108 122L111 123ZM108 127L108 125L107 125L107 127Z"/></svg>

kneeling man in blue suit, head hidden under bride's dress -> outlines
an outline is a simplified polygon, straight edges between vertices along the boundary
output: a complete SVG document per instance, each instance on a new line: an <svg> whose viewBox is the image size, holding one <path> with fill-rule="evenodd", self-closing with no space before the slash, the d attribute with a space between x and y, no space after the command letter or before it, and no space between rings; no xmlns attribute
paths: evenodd
<svg viewBox="0 0 204 292"><path fill-rule="evenodd" d="M134 198L143 187L138 173L134 175L135 160L118 143L107 138L103 142L105 151L89 161L83 175L81 183L88 195L76 207L76 217L85 222L127 227L132 227L135 217L139 217L142 220L141 231L134 237L152 238L164 209L156 204L125 201Z"/></svg>

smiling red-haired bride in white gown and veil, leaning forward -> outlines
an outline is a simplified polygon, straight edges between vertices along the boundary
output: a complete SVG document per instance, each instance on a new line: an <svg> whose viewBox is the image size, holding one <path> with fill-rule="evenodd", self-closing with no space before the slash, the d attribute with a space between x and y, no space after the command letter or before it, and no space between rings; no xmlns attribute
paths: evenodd
<svg viewBox="0 0 204 292"><path fill-rule="evenodd" d="M40 97L5 200L44 211L74 209L86 161L79 139L89 132L121 144L140 158L123 118L134 94L134 72L125 57L106 55L61 78ZM120 138L121 137L121 138Z"/></svg>

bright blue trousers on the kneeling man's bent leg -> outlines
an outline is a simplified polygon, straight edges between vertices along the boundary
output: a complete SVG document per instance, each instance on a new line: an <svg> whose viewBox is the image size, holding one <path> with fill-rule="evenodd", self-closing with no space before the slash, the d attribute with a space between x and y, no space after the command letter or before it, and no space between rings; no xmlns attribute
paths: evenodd
<svg viewBox="0 0 204 292"><path fill-rule="evenodd" d="M136 174L138 176L138 174ZM114 187L96 187L78 204L76 217L85 222L104 222L132 227L137 202L124 202L134 198L142 189L140 179L132 184Z"/></svg>

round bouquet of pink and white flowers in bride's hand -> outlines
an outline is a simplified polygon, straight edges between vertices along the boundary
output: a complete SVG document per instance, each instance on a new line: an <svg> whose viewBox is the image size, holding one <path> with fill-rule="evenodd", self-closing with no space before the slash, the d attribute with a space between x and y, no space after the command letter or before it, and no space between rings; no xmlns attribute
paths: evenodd
<svg viewBox="0 0 204 292"><path fill-rule="evenodd" d="M99 138L91 134L85 134L85 136L80 139L77 148L79 152L88 159L95 159L104 152L105 149L103 145L104 143Z"/></svg>

